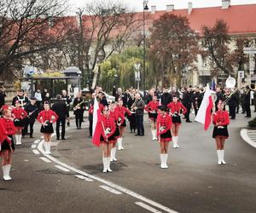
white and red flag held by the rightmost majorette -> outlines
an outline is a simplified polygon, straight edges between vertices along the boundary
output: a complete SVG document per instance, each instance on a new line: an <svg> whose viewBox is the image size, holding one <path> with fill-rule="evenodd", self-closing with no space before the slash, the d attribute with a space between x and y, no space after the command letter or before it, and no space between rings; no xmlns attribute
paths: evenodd
<svg viewBox="0 0 256 213"><path fill-rule="evenodd" d="M213 108L213 101L212 101L212 93L215 93L209 88L207 84L207 89L204 95L203 100L201 101L201 106L197 112L195 117L195 121L205 124L205 130L208 130L211 122L212 122L212 108Z"/></svg>

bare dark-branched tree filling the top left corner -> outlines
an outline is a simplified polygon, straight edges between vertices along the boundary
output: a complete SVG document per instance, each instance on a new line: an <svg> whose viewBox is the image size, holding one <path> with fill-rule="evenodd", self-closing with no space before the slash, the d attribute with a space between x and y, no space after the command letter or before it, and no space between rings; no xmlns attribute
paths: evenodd
<svg viewBox="0 0 256 213"><path fill-rule="evenodd" d="M62 43L58 19L61 0L2 0L0 3L0 75L20 78L22 62L30 55ZM55 19L56 18L56 19ZM56 26L55 30L52 26Z"/></svg>

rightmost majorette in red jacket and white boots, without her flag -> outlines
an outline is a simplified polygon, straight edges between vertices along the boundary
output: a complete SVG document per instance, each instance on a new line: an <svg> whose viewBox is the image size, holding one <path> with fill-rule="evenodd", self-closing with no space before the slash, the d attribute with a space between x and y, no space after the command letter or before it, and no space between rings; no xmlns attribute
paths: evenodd
<svg viewBox="0 0 256 213"><path fill-rule="evenodd" d="M213 113L212 123L214 124L212 138L215 138L216 141L218 164L226 164L224 161L224 142L229 138L230 116L224 110L223 101L218 101L218 111Z"/></svg>

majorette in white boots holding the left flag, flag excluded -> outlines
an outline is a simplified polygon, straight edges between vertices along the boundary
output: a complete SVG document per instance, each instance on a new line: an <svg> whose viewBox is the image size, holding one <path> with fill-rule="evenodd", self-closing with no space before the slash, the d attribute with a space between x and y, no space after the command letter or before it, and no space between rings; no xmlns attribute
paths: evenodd
<svg viewBox="0 0 256 213"><path fill-rule="evenodd" d="M102 144L102 161L103 161L103 172L111 172L110 169L110 153L115 141L115 123L113 118L110 117L108 107L104 107L102 111L102 133L101 133L101 144Z"/></svg>

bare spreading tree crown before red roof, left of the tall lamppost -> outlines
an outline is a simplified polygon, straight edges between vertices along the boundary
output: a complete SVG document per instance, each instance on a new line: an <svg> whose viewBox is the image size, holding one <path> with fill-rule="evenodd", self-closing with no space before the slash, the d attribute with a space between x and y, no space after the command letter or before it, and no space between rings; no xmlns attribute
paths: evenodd
<svg viewBox="0 0 256 213"><path fill-rule="evenodd" d="M70 29L63 52L70 61L69 66L78 65L83 73L87 72L84 78L91 80L97 64L124 49L139 26L140 16L122 3L110 2L89 3L77 15L79 25Z"/></svg>

